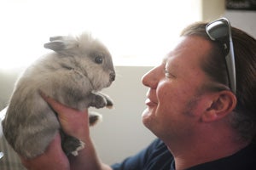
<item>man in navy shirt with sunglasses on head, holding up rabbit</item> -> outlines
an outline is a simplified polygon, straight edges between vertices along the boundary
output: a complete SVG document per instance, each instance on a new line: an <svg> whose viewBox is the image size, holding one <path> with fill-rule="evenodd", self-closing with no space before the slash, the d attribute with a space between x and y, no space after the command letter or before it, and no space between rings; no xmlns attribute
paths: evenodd
<svg viewBox="0 0 256 170"><path fill-rule="evenodd" d="M159 138L145 150L112 167L103 164L84 121L87 111L75 111L43 94L64 131L86 147L79 156L67 157L56 134L44 155L23 159L23 164L28 169L61 170L256 169L253 37L231 29L226 19L195 23L183 30L163 62L148 71L143 84L148 87L143 124Z"/></svg>

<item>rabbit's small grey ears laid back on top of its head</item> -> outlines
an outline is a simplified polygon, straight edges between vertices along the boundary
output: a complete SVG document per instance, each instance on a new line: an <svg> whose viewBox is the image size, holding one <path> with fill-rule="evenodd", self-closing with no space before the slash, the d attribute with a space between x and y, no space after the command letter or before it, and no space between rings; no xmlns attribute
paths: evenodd
<svg viewBox="0 0 256 170"><path fill-rule="evenodd" d="M44 48L49 48L55 52L60 52L66 49L77 46L77 41L73 37L50 37L48 43L44 43Z"/></svg>

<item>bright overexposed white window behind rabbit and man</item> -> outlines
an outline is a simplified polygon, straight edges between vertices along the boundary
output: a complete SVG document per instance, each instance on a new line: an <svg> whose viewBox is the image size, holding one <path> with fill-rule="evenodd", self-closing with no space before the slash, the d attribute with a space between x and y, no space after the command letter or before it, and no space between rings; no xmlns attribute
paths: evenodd
<svg viewBox="0 0 256 170"><path fill-rule="evenodd" d="M155 65L184 26L201 20L200 0L6 0L0 2L0 68L30 64L49 37L91 31L114 65Z"/></svg>

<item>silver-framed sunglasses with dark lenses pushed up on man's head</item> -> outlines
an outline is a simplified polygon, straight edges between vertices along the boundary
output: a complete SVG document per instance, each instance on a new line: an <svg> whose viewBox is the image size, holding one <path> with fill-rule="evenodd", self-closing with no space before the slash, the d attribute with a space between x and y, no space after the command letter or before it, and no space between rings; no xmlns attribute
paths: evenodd
<svg viewBox="0 0 256 170"><path fill-rule="evenodd" d="M206 31L212 41L220 42L224 47L230 89L234 94L236 94L236 65L230 21L226 18L214 20L207 24Z"/></svg>

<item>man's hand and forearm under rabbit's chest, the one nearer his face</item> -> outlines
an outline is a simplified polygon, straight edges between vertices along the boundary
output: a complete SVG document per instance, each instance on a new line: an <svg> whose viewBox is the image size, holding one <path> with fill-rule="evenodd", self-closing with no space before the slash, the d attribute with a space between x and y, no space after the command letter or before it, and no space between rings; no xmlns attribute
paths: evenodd
<svg viewBox="0 0 256 170"><path fill-rule="evenodd" d="M44 94L41 95L52 109L56 111L58 119L61 122L62 130L68 135L80 139L85 143L84 149L79 151L79 156L68 156L70 168L76 170L102 169L102 164L96 156L96 150L90 139L90 123L87 109L78 111L61 105L59 102Z"/></svg>

